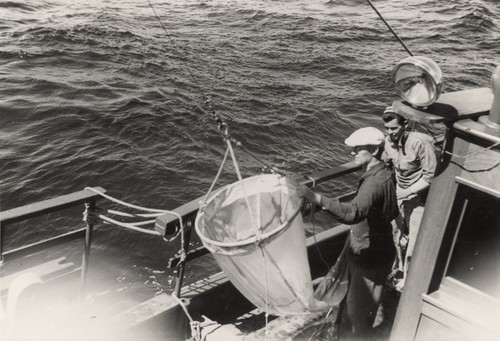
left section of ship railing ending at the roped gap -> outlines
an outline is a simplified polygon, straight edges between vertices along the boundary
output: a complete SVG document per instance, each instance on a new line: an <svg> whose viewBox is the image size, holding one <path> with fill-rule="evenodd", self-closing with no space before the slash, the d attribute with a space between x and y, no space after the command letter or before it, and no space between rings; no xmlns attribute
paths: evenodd
<svg viewBox="0 0 500 341"><path fill-rule="evenodd" d="M101 187L95 187L95 189L100 192L106 192ZM0 212L0 264L3 264L4 262L8 262L14 259L19 259L26 255L35 254L37 252L47 250L51 247L58 246L63 243L84 238L85 242L83 245L82 264L80 268L81 272L80 297L84 297L83 295L85 292L90 249L92 244L92 231L93 231L92 222L87 222L86 227L84 228L80 228L70 232L65 232L55 237L47 238L28 245L23 245L9 251L4 251L3 248L4 238L6 236L7 227L10 224L19 223L43 215L48 215L50 213L54 213L71 207L76 207L82 204L85 204L86 208L92 211L95 210L96 201L100 198L101 196L99 194L96 194L95 192L89 190L83 190L59 196L53 199L48 199L34 204ZM64 267L64 265L61 266ZM59 269L57 269L57 267L55 268L51 267L49 270L51 270L52 272L57 272ZM2 282L8 284L10 281L4 280Z"/></svg>

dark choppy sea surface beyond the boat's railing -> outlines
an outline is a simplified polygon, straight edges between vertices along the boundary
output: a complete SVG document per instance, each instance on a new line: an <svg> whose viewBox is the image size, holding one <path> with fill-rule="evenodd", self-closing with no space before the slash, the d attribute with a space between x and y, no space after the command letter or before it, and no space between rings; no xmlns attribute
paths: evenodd
<svg viewBox="0 0 500 341"><path fill-rule="evenodd" d="M166 33L147 0L0 0L2 210L86 186L160 209L205 194L225 145L203 94L246 149L299 174L349 161L345 137L382 128L392 68L408 54L366 1L150 1ZM497 0L374 3L414 55L441 66L445 91L489 86ZM261 171L236 155L244 176ZM235 179L228 166L220 183ZM5 247L81 227L81 212L13 225ZM99 227L93 264L114 283L101 294L168 291L177 248ZM193 263L187 281L213 270Z"/></svg>

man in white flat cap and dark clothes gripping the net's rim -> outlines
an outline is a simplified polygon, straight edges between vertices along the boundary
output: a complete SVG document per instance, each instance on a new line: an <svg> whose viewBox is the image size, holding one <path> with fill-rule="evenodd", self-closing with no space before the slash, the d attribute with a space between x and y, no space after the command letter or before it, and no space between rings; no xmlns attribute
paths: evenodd
<svg viewBox="0 0 500 341"><path fill-rule="evenodd" d="M349 287L337 318L341 339L369 337L383 285L394 263L391 221L399 214L392 171L381 161L384 134L373 127L356 130L345 144L363 167L356 196L349 202L299 186L299 195L351 225L344 253Z"/></svg>

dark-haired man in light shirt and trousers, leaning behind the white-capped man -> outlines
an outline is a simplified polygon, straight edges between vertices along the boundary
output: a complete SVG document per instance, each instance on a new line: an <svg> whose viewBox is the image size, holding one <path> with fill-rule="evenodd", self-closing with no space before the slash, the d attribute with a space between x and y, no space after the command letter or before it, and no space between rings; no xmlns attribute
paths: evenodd
<svg viewBox="0 0 500 341"><path fill-rule="evenodd" d="M401 257L401 244L406 241L404 259L398 259L398 269L403 278L396 283L396 289L404 287L413 249L424 213L424 204L432 178L436 171L436 154L429 135L410 131L404 117L392 107L382 114L387 132L385 151L382 158L392 165L396 177L396 194L401 216L396 223L396 247ZM403 244L404 246L404 244Z"/></svg>

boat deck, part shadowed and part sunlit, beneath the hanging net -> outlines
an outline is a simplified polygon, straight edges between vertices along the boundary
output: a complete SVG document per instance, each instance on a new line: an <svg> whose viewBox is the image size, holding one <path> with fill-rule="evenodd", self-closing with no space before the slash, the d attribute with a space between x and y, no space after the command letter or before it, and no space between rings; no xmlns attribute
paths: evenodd
<svg viewBox="0 0 500 341"><path fill-rule="evenodd" d="M338 309L327 313L298 316L269 316L256 309L227 279L223 272L183 288L189 311L207 326L206 340L331 340ZM374 324L373 340L387 340L399 301L399 293L386 288ZM209 323L212 321L213 323Z"/></svg>

